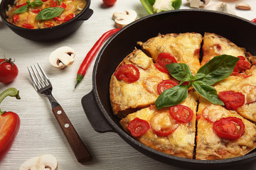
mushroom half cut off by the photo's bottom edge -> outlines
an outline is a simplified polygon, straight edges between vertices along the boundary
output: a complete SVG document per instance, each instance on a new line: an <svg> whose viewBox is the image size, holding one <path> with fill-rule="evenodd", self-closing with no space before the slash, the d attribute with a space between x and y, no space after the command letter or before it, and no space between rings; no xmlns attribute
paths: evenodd
<svg viewBox="0 0 256 170"><path fill-rule="evenodd" d="M57 159L51 154L43 154L24 162L19 170L57 170Z"/></svg>

